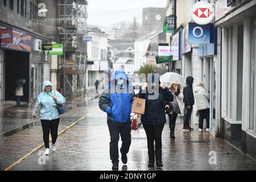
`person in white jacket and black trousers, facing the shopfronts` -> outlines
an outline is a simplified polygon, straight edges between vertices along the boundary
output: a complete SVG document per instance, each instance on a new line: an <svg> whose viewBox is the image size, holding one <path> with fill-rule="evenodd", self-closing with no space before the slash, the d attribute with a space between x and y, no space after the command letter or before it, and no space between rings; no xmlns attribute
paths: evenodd
<svg viewBox="0 0 256 182"><path fill-rule="evenodd" d="M195 88L197 110L199 111L199 132L203 131L204 119L207 121L206 131L210 131L210 94L204 88L204 82L198 82Z"/></svg>

